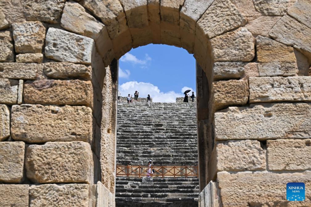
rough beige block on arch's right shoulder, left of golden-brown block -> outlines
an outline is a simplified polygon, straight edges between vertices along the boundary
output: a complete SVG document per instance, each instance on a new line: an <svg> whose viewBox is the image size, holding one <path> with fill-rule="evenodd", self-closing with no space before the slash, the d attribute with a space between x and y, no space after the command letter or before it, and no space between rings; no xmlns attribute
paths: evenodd
<svg viewBox="0 0 311 207"><path fill-rule="evenodd" d="M211 39L214 60L252 61L255 56L255 39L245 27Z"/></svg>

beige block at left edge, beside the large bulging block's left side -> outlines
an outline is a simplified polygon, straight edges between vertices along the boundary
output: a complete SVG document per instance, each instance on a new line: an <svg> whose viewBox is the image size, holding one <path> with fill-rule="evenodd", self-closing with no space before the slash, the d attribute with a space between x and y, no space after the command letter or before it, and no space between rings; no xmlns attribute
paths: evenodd
<svg viewBox="0 0 311 207"><path fill-rule="evenodd" d="M23 178L24 156L24 142L0 142L1 182L21 182Z"/></svg>

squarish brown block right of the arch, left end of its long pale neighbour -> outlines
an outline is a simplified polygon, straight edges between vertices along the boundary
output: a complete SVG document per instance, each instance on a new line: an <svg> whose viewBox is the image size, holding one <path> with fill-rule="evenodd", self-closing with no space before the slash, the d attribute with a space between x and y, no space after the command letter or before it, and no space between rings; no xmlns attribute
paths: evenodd
<svg viewBox="0 0 311 207"><path fill-rule="evenodd" d="M232 105L244 105L248 101L248 80L213 82L213 108L219 110Z"/></svg>

